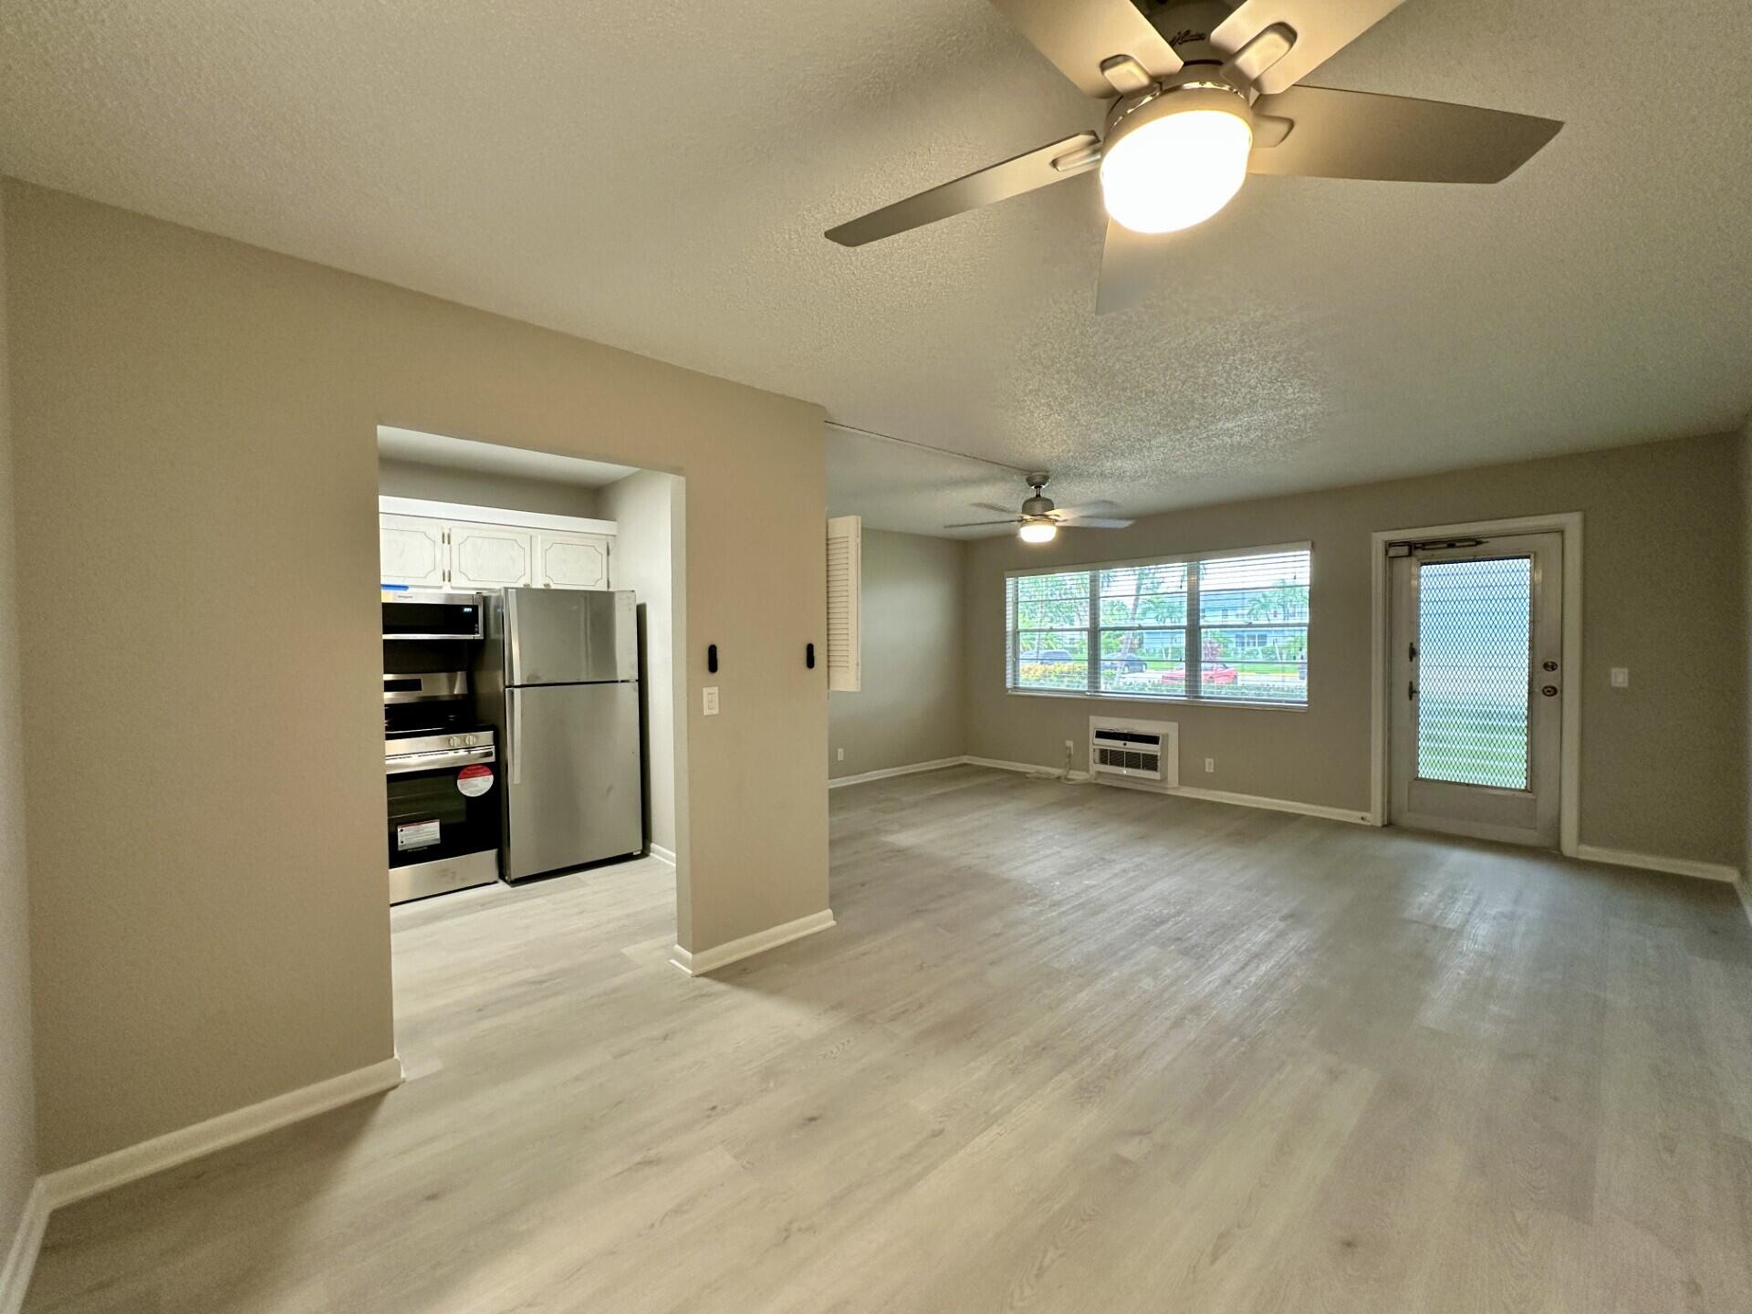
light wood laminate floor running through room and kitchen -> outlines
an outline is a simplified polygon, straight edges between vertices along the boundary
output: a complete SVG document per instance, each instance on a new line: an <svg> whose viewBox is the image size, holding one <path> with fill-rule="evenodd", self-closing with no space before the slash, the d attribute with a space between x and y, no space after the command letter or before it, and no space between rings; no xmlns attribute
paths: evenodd
<svg viewBox="0 0 1752 1314"><path fill-rule="evenodd" d="M30 1314L1752 1309L1729 887L957 767L839 927L398 909L384 1097L56 1212Z"/></svg>

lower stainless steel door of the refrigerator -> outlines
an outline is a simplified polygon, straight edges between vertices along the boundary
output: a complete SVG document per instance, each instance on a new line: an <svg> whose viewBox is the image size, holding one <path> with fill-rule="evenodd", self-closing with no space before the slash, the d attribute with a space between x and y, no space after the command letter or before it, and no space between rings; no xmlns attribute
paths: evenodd
<svg viewBox="0 0 1752 1314"><path fill-rule="evenodd" d="M639 687L505 690L505 880L645 848Z"/></svg>

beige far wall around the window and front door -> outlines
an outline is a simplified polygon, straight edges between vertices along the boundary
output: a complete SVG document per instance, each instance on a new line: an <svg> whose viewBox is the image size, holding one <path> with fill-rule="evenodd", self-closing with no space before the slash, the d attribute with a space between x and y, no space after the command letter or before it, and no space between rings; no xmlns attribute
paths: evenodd
<svg viewBox="0 0 1752 1314"><path fill-rule="evenodd" d="M1747 764L1734 436L1465 470L1291 498L1200 506L1030 550L969 557L971 748L1058 766L1107 708L1181 727L1181 783L1367 811L1370 543L1379 529L1582 512L1582 843L1736 864ZM1153 552L1314 543L1307 711L1004 692L1004 571ZM1629 689L1608 689L1612 666ZM1216 759L1205 774L1202 762Z"/></svg>

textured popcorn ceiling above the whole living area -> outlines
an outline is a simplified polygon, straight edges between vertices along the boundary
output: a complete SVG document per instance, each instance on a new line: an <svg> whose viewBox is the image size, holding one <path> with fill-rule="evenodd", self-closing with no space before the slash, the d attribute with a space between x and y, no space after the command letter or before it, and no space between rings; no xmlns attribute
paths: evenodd
<svg viewBox="0 0 1752 1314"><path fill-rule="evenodd" d="M1752 408L1752 5L1409 0L1310 81L1566 119L1498 187L1254 179L1093 315L1083 177L822 230L1095 126L985 0L7 0L0 170L1163 510ZM997 470L834 434L836 512Z"/></svg>

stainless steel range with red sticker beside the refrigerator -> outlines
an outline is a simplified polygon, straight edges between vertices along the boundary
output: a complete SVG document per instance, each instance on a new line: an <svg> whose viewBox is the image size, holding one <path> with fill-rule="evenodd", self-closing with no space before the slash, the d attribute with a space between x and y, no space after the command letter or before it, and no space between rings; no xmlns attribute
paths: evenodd
<svg viewBox="0 0 1752 1314"><path fill-rule="evenodd" d="M498 757L466 671L384 676L389 902L499 880Z"/></svg>

